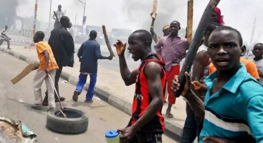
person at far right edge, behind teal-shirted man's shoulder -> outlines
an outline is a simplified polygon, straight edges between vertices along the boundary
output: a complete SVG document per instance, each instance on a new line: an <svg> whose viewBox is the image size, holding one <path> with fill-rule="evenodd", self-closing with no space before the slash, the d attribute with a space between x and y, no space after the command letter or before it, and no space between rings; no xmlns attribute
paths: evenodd
<svg viewBox="0 0 263 143"><path fill-rule="evenodd" d="M255 58L252 60L258 69L260 75L260 83L263 84L263 43L257 43L252 50Z"/></svg>

